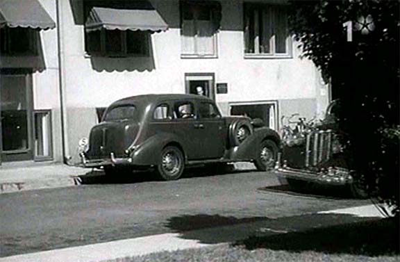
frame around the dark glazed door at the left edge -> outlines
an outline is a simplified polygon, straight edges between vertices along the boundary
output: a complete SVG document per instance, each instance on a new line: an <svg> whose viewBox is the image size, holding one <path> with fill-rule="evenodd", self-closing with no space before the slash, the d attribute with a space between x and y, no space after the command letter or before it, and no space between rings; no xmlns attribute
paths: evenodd
<svg viewBox="0 0 400 262"><path fill-rule="evenodd" d="M24 76L25 78L25 88L26 88L26 116L27 116L27 139L28 139L28 149L22 150L13 150L10 152L3 152L3 136L2 129L0 129L0 158L2 162L11 162L11 161L33 161L34 157L34 148L33 141L35 139L33 133L33 76L32 72L29 69L1 69L0 75L8 76ZM1 108L0 108L1 114ZM1 122L1 121L0 121ZM2 128L2 126L1 126Z"/></svg>

